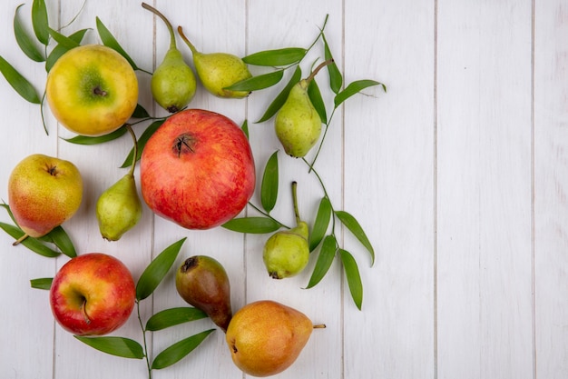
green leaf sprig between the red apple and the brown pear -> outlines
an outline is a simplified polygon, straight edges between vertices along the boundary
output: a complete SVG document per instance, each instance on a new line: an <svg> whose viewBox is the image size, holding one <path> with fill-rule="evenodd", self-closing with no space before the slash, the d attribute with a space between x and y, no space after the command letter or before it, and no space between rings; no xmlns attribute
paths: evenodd
<svg viewBox="0 0 568 379"><path fill-rule="evenodd" d="M84 344L88 344L94 349L106 354L112 354L122 358L145 359L149 379L152 378L152 370L160 370L171 364L175 364L195 350L215 329L204 330L201 333L193 334L175 344L171 344L171 346L157 354L153 360L151 360L148 353L146 334L148 332L160 331L173 325L189 323L207 317L207 314L201 310L192 307L166 309L157 314L153 314L145 325L142 322L142 316L140 314L140 303L155 291L162 283L166 274L170 272L171 266L180 253L181 245L185 240L186 238L182 238L166 247L162 253L158 254L144 269L136 284L136 311L142 329L142 344L131 338L120 336L85 337L75 335L74 337Z"/></svg>

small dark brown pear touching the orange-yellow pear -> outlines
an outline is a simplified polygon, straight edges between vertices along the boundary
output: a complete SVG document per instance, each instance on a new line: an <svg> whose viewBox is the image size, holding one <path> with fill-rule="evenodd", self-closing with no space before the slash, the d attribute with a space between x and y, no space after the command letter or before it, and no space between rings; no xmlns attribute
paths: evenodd
<svg viewBox="0 0 568 379"><path fill-rule="evenodd" d="M195 255L181 264L175 276L178 294L205 312L225 332L230 323L230 283L224 267L211 256Z"/></svg>

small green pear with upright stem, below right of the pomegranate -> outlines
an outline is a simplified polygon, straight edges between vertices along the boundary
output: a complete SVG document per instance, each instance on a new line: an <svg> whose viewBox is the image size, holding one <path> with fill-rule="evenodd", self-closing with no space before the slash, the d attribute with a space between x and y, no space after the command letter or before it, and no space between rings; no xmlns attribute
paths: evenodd
<svg viewBox="0 0 568 379"><path fill-rule="evenodd" d="M308 224L299 218L296 194L297 183L292 182L292 197L296 227L272 234L264 244L262 259L274 279L283 279L299 274L308 264Z"/></svg>

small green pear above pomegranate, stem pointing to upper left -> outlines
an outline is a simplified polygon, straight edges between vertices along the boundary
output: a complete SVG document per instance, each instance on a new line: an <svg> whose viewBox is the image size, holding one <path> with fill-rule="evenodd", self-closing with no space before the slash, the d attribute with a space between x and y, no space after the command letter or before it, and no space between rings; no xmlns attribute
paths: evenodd
<svg viewBox="0 0 568 379"><path fill-rule="evenodd" d="M205 89L218 97L242 98L250 94L247 91L231 91L227 89L230 85L249 79L252 76L249 68L240 57L227 53L201 53L183 35L181 26L178 26L178 33L191 49L195 71Z"/></svg>

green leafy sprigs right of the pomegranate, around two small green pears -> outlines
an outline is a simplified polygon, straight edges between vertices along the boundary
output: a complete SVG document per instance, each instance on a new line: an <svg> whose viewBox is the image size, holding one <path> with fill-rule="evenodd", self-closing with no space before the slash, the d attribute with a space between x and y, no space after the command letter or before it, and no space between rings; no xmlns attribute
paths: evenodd
<svg viewBox="0 0 568 379"><path fill-rule="evenodd" d="M319 141L319 145L316 148L316 153L312 161L308 162L305 158L302 159L306 165L308 165L308 172L317 176L318 182L324 192L324 196L319 201L318 213L316 214L314 224L311 228L311 234L309 235L309 250L312 253L315 252L318 254L318 258L306 288L312 288L320 283L320 281L328 273L329 267L333 263L334 259L338 258L347 277L351 297L357 305L357 308L361 309L363 301L363 284L361 282L357 262L351 253L338 244L338 238L336 236L336 221L343 225L350 233L354 234L357 240L367 249L367 252L371 257L371 265L375 262L375 250L370 244L367 234L365 234L357 219L352 214L346 211L337 210L333 207L329 199L326 186L322 178L318 175L318 172L314 169L314 165L326 140L328 128L329 125L331 125L336 110L343 105L348 98L353 95L357 95L370 86L379 85L384 91L387 91L387 87L375 80L364 79L349 83L345 88L343 88L343 75L341 74L337 63L333 59L331 48L328 45L328 40L324 32L327 21L328 16L326 16L324 25L320 28L317 38L308 48L287 47L260 51L258 53L245 56L243 58L245 63L249 65L272 66L275 67L275 71L269 74L250 78L247 81L231 86L230 89L239 88L240 90L256 91L271 85L276 85L283 77L284 71L293 68L294 72L290 75L289 81L281 88L279 94L270 102L269 106L257 123L269 121L269 119L279 112L281 106L284 105L288 99L291 88L298 84L301 80L302 73L299 64L304 60L304 58L308 55L308 52L318 43L318 41L321 40L323 43L323 58L325 61L331 62L327 65L329 86L328 88L324 88L324 90L329 90L333 95L333 105L330 107L331 111L328 112L327 106L323 100L324 97L321 93L321 89L319 88L316 80L312 79L308 85L308 96L325 127L323 136ZM270 215L270 212L277 203L278 186L279 159L277 151L270 155L264 167L262 182L260 185L260 206L249 203L250 206L261 215L247 215L235 218L222 226L240 233L253 234L272 233L279 230L281 227L286 227Z"/></svg>

